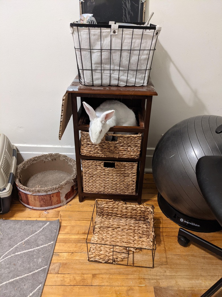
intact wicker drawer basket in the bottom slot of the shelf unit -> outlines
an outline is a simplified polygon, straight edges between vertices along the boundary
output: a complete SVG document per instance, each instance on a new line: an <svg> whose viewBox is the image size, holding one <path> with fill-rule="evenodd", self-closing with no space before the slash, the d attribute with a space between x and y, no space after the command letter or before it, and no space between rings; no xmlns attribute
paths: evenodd
<svg viewBox="0 0 222 297"><path fill-rule="evenodd" d="M83 191L135 195L137 165L135 162L82 160Z"/></svg>

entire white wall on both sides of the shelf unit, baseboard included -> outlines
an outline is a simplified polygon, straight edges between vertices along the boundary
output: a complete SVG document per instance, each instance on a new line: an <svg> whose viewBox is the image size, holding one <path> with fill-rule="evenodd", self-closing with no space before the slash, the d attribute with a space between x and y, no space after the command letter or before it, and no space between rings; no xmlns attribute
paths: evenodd
<svg viewBox="0 0 222 297"><path fill-rule="evenodd" d="M150 0L146 17L162 26L151 78L148 154L182 119L222 115L221 0ZM78 0L0 1L0 132L24 158L74 152L72 122L58 140L62 96L77 74L69 23ZM150 167L152 157L147 157Z"/></svg>

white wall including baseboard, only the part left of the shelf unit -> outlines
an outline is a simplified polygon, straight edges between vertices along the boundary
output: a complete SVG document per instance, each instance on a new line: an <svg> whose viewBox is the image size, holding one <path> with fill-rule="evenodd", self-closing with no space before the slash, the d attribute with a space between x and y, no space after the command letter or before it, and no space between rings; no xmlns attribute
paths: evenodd
<svg viewBox="0 0 222 297"><path fill-rule="evenodd" d="M62 96L77 74L70 22L77 0L0 1L0 132L24 158L74 154L72 123L58 139Z"/></svg>

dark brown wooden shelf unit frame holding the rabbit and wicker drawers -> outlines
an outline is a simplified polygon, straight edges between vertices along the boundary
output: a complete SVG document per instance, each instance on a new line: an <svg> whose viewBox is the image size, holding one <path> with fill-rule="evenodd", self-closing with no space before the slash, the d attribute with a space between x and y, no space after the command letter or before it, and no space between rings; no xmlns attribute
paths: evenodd
<svg viewBox="0 0 222 297"><path fill-rule="evenodd" d="M106 198L106 199L125 199L137 200L141 202L142 185L144 178L145 159L147 151L147 139L149 131L149 121L152 105L152 96L157 96L157 92L149 80L147 86L83 86L79 83L78 77L73 80L73 83L67 89L68 100L72 102L73 114L73 129L75 140L75 156L76 156L76 169L78 179L78 195L79 201L82 202L83 198ZM77 108L77 97L81 99L81 106ZM116 99L129 108L133 109L136 113L139 126L115 126L111 128L114 132L137 132L142 133L141 153L139 159L131 158L103 158L103 157L90 157L83 156L80 153L80 137L79 131L89 130L89 119L82 106L82 102L89 103L94 109L98 107L103 101L107 99ZM81 159L88 160L104 160L104 161L126 161L126 162L139 162L137 181L136 181L136 194L135 195L120 195L120 194L101 194L101 193L86 193L83 191L82 173L81 173Z"/></svg>

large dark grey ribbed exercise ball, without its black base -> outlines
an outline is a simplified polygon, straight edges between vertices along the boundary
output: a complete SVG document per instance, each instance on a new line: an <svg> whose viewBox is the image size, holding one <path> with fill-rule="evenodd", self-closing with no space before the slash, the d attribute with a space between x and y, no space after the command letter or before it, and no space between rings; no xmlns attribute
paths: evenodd
<svg viewBox="0 0 222 297"><path fill-rule="evenodd" d="M195 167L202 156L222 155L222 135L215 133L221 124L221 116L194 116L170 128L156 146L152 171L157 189L170 206L189 217L215 220Z"/></svg>

